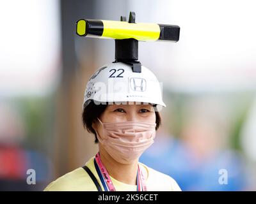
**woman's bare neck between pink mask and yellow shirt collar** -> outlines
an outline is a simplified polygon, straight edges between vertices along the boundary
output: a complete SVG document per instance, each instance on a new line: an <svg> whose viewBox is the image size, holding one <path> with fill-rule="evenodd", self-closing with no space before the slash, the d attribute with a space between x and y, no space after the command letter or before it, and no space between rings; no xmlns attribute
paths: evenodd
<svg viewBox="0 0 256 204"><path fill-rule="evenodd" d="M99 144L99 152L100 159L111 177L125 184L136 185L138 160L131 164L118 163L101 144Z"/></svg>

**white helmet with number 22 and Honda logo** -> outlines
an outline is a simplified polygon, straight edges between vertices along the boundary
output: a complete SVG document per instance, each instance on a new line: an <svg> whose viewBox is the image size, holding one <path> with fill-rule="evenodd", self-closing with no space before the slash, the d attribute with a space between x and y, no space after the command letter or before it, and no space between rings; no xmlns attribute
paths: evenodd
<svg viewBox="0 0 256 204"><path fill-rule="evenodd" d="M95 104L140 102L166 106L162 84L152 71L141 65L141 72L133 72L129 64L112 62L98 69L84 91L83 108Z"/></svg>

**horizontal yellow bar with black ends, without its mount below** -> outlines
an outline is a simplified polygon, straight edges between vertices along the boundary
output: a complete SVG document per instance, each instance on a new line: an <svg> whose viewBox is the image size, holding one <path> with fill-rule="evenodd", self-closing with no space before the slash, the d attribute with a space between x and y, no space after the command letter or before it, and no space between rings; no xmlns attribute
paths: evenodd
<svg viewBox="0 0 256 204"><path fill-rule="evenodd" d="M129 23L114 20L81 19L77 21L76 33L91 38L113 38L138 41L179 41L180 27L154 23Z"/></svg>

